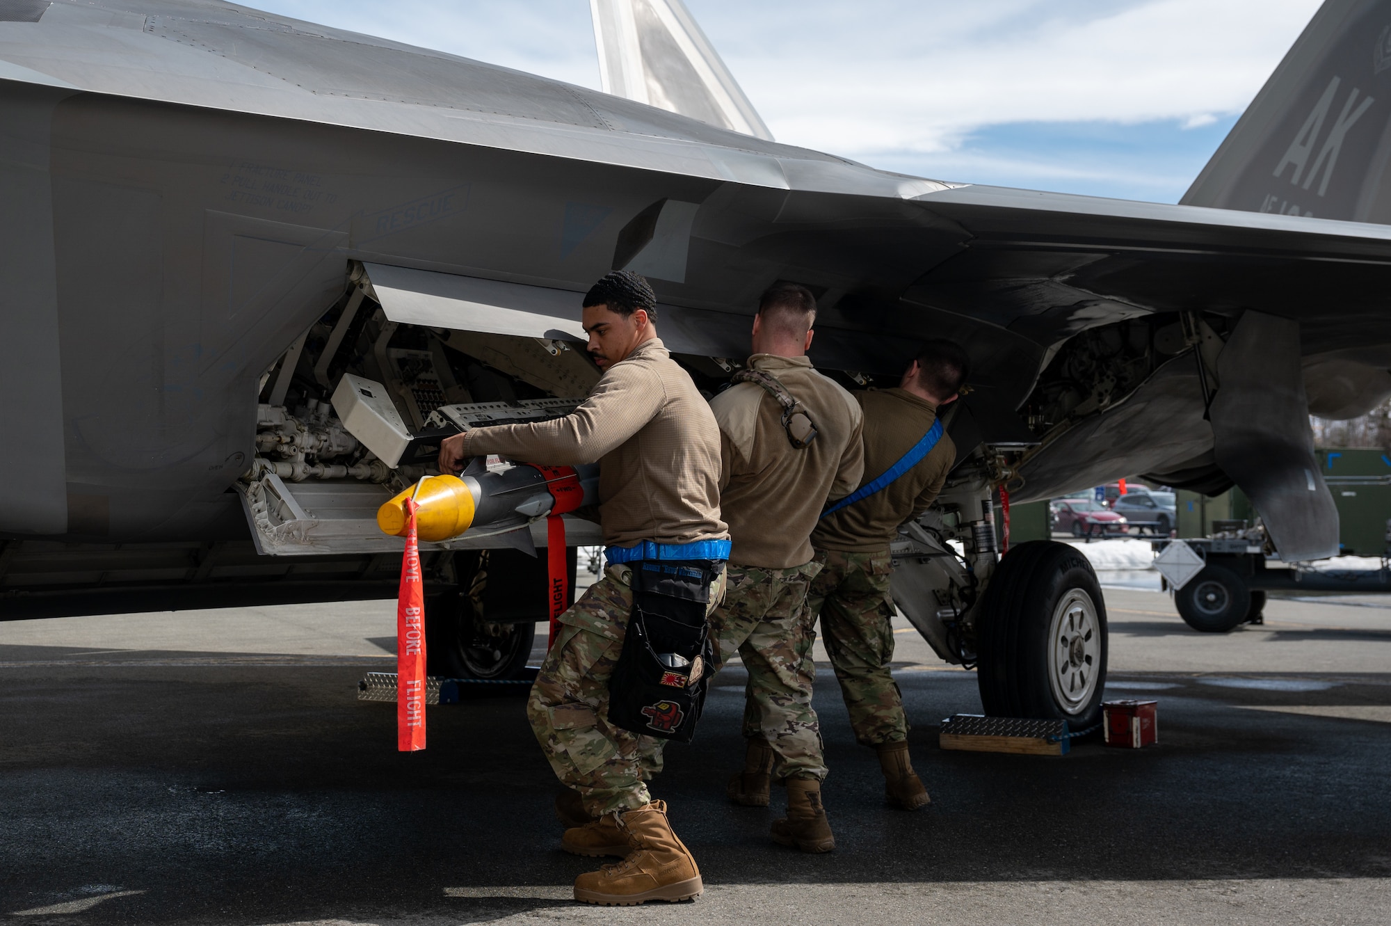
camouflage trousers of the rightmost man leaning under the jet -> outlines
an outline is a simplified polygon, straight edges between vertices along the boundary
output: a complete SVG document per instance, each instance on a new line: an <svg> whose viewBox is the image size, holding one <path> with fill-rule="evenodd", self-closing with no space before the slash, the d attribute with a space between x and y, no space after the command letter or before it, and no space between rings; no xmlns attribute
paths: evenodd
<svg viewBox="0 0 1391 926"><path fill-rule="evenodd" d="M889 596L889 551L851 553L818 549L814 562L821 563L822 570L807 594L808 624L819 615L826 655L840 683L855 740L865 745L906 740L908 720L903 713L899 685L889 672L893 660L890 619L894 613ZM810 647L803 674L810 685L815 674ZM753 713L753 702L746 701L746 726Z"/></svg>

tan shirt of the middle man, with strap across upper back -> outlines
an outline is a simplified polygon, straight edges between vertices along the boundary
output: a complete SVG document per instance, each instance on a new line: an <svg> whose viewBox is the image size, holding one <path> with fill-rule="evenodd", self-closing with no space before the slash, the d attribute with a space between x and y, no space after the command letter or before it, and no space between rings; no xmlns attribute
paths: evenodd
<svg viewBox="0 0 1391 926"><path fill-rule="evenodd" d="M849 392L807 357L755 353L748 366L778 378L817 425L798 450L782 425L782 405L753 382L711 400L721 432L721 509L733 541L730 562L787 569L814 555L811 531L826 499L849 495L864 473L862 414Z"/></svg>

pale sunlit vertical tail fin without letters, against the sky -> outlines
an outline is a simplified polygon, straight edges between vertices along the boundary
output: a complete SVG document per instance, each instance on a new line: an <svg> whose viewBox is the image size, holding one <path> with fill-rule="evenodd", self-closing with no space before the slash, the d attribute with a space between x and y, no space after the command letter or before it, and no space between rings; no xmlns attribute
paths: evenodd
<svg viewBox="0 0 1391 926"><path fill-rule="evenodd" d="M772 140L682 0L590 0L605 93Z"/></svg>

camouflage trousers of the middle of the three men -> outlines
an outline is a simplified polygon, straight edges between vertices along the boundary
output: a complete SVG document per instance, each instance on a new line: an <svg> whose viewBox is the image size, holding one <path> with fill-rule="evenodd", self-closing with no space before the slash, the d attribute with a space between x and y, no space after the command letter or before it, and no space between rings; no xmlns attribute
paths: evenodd
<svg viewBox="0 0 1391 926"><path fill-rule="evenodd" d="M768 740L779 780L826 777L821 724L811 708L812 676L804 669L812 665L817 641L807 592L818 571L817 562L790 569L730 564L725 603L709 619L715 672L736 652L743 659L748 670L744 736ZM664 741L655 742L659 767Z"/></svg>

